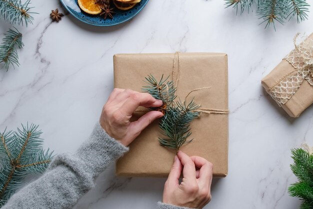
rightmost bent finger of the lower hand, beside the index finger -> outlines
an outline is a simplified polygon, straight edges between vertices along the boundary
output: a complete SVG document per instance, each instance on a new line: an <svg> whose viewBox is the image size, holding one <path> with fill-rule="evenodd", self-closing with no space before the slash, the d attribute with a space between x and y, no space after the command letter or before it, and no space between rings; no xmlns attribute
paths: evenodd
<svg viewBox="0 0 313 209"><path fill-rule="evenodd" d="M199 168L199 184L208 187L210 180L212 179L212 163L199 156L191 156L190 158L194 162L194 165Z"/></svg>

